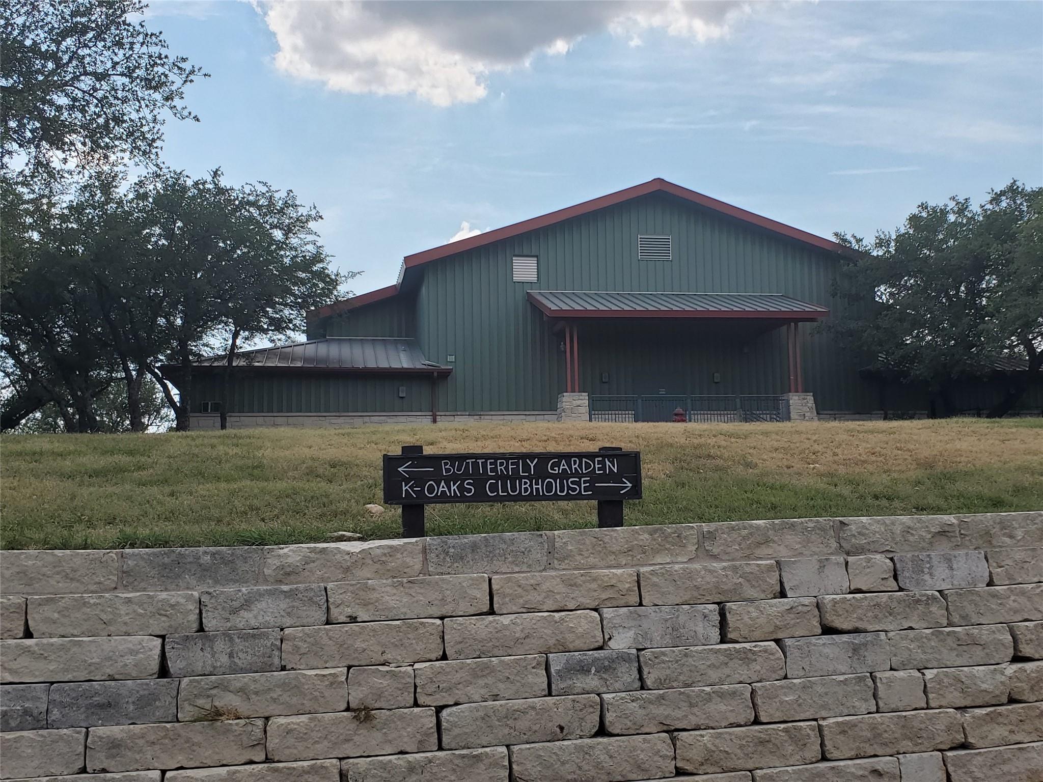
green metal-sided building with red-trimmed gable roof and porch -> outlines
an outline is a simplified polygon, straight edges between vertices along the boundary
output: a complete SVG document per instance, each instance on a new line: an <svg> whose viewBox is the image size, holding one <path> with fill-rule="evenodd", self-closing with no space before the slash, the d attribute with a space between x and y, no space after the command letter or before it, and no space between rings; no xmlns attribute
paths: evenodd
<svg viewBox="0 0 1043 782"><path fill-rule="evenodd" d="M229 425L928 410L819 327L843 315L841 251L653 179L407 255L395 285L308 313L307 342L237 357ZM223 364L196 367L194 426L216 425ZM1002 384L961 405L988 408Z"/></svg>

